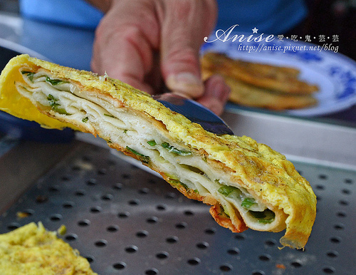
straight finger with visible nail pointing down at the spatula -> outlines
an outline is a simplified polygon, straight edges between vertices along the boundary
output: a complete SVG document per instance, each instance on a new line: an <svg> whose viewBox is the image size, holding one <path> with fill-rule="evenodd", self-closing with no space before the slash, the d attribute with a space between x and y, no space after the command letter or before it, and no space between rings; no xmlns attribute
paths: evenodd
<svg viewBox="0 0 356 275"><path fill-rule="evenodd" d="M161 71L171 90L191 98L204 93L199 48L212 28L216 12L206 1L169 0L159 12L161 26ZM209 24L207 24L209 22Z"/></svg>

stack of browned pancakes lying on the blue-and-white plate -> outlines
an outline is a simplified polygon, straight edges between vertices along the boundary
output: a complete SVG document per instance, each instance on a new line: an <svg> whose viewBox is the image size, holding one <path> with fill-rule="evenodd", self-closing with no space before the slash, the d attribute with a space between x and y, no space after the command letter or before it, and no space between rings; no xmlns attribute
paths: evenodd
<svg viewBox="0 0 356 275"><path fill-rule="evenodd" d="M272 66L229 58L223 53L205 53L201 58L204 79L224 77L233 103L269 110L298 109L318 103L317 85L300 80L295 68Z"/></svg>

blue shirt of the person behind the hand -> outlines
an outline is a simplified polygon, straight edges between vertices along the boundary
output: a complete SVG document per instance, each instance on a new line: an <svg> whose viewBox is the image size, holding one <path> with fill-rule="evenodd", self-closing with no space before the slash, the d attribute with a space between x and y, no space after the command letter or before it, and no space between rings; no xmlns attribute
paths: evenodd
<svg viewBox="0 0 356 275"><path fill-rule="evenodd" d="M302 21L307 9L303 0L218 0L216 28L236 31L283 34ZM85 0L20 0L21 14L57 24L95 28L103 13Z"/></svg>

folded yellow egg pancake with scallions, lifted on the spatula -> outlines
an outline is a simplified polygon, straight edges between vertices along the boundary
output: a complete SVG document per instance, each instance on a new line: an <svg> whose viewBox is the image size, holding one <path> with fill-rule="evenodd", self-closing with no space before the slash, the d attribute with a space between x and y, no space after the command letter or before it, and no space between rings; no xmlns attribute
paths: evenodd
<svg viewBox="0 0 356 275"><path fill-rule="evenodd" d="M1 73L0 110L100 135L185 196L210 204L232 232L286 229L283 246L308 241L315 194L285 156L250 137L206 132L130 85L22 55Z"/></svg>

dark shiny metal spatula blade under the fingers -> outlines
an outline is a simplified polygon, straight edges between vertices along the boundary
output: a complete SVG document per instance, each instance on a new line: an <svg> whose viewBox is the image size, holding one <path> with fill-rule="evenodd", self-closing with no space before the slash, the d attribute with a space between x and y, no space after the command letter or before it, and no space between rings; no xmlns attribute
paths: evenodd
<svg viewBox="0 0 356 275"><path fill-rule="evenodd" d="M234 135L229 126L224 123L224 120L192 99L184 98L175 93L153 95L153 98L172 111L184 115L193 123L200 124L208 132L216 135Z"/></svg>

